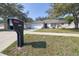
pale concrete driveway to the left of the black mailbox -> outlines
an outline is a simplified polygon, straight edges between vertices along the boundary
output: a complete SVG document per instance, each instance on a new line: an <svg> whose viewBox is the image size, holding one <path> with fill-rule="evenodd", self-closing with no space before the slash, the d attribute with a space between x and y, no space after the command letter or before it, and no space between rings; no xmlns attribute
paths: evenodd
<svg viewBox="0 0 79 59"><path fill-rule="evenodd" d="M16 36L16 32L13 31L0 32L0 52L16 41Z"/></svg>

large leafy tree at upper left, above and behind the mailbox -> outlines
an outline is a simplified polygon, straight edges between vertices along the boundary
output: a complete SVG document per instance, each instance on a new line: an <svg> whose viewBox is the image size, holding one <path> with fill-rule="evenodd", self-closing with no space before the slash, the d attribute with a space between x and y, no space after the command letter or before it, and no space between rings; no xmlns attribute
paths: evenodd
<svg viewBox="0 0 79 59"><path fill-rule="evenodd" d="M23 6L17 3L1 3L0 4L0 17L4 19L4 26L7 29L7 18L17 17L21 20L25 20L27 15L22 12Z"/></svg>

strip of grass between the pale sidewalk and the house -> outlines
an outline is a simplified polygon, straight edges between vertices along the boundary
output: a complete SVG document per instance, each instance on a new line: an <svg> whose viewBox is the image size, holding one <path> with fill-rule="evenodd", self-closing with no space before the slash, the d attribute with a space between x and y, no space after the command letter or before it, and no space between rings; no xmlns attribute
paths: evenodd
<svg viewBox="0 0 79 59"><path fill-rule="evenodd" d="M40 29L36 32L79 33L79 29Z"/></svg>

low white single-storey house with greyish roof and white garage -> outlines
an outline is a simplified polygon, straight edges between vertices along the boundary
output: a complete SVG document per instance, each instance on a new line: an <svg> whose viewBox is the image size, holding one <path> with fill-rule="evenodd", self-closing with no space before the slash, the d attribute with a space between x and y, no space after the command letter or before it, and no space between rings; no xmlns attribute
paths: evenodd
<svg viewBox="0 0 79 59"><path fill-rule="evenodd" d="M47 26L49 28L75 28L74 22L72 22L71 24L68 24L63 19L60 19L60 20L48 19L44 21L35 21L32 23L27 23L27 25L25 24L25 28L30 28L30 29L31 28L42 28L44 23L47 23Z"/></svg>

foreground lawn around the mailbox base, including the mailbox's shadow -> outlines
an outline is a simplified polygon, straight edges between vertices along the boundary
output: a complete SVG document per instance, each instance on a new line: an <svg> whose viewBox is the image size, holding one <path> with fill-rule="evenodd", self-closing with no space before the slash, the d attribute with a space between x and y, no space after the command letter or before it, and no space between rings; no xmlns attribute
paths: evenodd
<svg viewBox="0 0 79 59"><path fill-rule="evenodd" d="M2 53L15 56L79 55L78 37L25 35L25 43L22 50L17 50L15 42Z"/></svg>

